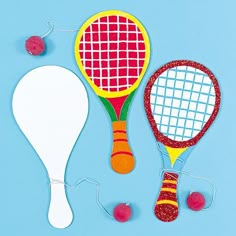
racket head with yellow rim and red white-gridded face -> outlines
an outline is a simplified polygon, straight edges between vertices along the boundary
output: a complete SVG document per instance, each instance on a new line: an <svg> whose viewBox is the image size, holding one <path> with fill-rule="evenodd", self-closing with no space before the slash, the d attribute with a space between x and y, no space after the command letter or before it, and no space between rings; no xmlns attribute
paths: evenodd
<svg viewBox="0 0 236 236"><path fill-rule="evenodd" d="M114 31L108 31L108 27ZM120 30L117 31L116 28ZM86 38L86 34L94 36ZM123 37L128 39L123 40ZM114 53L110 47L116 44L118 49L114 49ZM150 58L150 43L144 26L134 16L118 10L103 11L89 18L76 37L74 50L77 65L83 76L95 93L105 98L122 97L133 92L141 82ZM104 79L105 77L107 79ZM123 87L117 88L120 84ZM111 86L113 88L110 88Z"/></svg>

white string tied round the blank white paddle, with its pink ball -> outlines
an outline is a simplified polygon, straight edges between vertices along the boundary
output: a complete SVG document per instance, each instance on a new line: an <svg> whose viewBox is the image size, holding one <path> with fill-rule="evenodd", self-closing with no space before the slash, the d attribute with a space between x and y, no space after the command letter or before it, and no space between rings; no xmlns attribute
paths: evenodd
<svg viewBox="0 0 236 236"><path fill-rule="evenodd" d="M100 183L98 183L95 180L92 180L89 178L82 178L78 180L76 183L74 183L73 185L69 185L61 180L52 179L52 178L49 178L49 179L50 179L50 186L52 184L62 184L69 189L73 189L77 187L78 185L82 184L83 182L87 182L89 184L95 185L96 186L96 203L103 212L105 212L112 219L115 219L116 221L121 222L121 223L129 221L129 219L132 216L132 208L130 206L130 203L120 203L116 205L116 207L113 210L113 214L111 214L100 202Z"/></svg>

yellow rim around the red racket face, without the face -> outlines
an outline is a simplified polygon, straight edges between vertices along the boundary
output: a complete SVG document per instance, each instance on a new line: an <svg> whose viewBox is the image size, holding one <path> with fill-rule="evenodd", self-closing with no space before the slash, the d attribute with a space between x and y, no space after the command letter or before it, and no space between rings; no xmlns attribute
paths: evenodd
<svg viewBox="0 0 236 236"><path fill-rule="evenodd" d="M143 38L144 38L144 44L146 47L146 53L145 53L145 58L144 58L144 65L143 65L143 69L138 77L138 79L135 81L135 83L128 89L126 90L122 90L119 92L109 92L109 91L105 91L100 89L98 86L96 86L93 81L90 79L90 77L87 75L82 61L81 61L81 57L80 57L80 53L79 53L79 42L81 41L81 38L83 36L84 31L88 28L88 26L93 23L94 21L96 21L98 18L104 17L104 16L123 16L126 17L128 19L130 19L131 21L133 21L134 23L137 24L138 28L140 29ZM119 10L110 10L110 11L103 11L100 12L98 14L93 15L92 17L90 17L80 28L79 33L76 36L76 40L75 40L75 47L74 47L74 51L75 51L75 58L76 58L76 62L77 65L79 66L80 71L82 72L83 76L85 77L85 79L88 81L88 83L90 84L90 86L93 88L93 90L95 91L95 93L101 97L104 98L115 98L115 97L123 97L125 95L130 94L131 92L133 92L138 85L140 84L148 63L149 63L149 59L150 59L150 42L149 42L149 38L148 38L148 34L144 28L144 26L139 22L139 20L137 18L135 18L134 16L130 15L129 13L123 12L123 11L119 11Z"/></svg>

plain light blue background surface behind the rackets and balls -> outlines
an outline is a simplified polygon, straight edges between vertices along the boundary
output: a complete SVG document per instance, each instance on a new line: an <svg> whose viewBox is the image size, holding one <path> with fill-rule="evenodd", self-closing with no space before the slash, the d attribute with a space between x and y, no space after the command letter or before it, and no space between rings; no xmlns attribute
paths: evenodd
<svg viewBox="0 0 236 236"><path fill-rule="evenodd" d="M0 235L234 235L235 207L235 1L225 0L8 0L1 2L0 77ZM151 61L133 100L128 132L136 156L135 170L126 176L109 166L111 124L98 98L75 63L76 33L55 32L46 43L47 54L32 57L24 50L31 35L42 35L45 22L56 27L79 28L91 15L119 9L135 15L146 27L151 41ZM184 170L211 178L217 188L213 207L192 212L185 205L189 190L206 193L207 183L183 177L179 197L181 210L173 223L153 214L160 187L161 159L143 107L143 91L151 74L175 59L191 59L209 67L222 90L222 106L209 132L191 153ZM74 212L72 225L64 230L47 220L49 186L47 173L37 154L20 132L12 115L14 88L29 70L47 64L64 66L81 78L90 100L85 129L70 157L66 181L81 177L99 181L101 201L111 211L118 202L131 202L134 217L126 224L111 220L99 210L95 188L88 184L68 191ZM101 138L102 137L102 138Z"/></svg>

